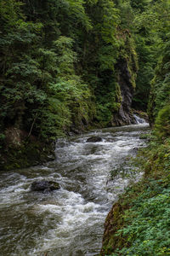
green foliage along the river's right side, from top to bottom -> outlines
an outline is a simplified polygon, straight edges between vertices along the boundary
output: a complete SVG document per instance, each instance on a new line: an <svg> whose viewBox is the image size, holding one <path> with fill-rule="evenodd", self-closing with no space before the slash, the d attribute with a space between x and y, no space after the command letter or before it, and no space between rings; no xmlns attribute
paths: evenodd
<svg viewBox="0 0 170 256"><path fill-rule="evenodd" d="M167 0L131 1L139 55L133 106L146 108L148 99L144 101L144 97L151 84L149 115L155 126L149 146L136 160L144 172L143 180L127 189L106 219L102 255L170 254L169 4Z"/></svg>

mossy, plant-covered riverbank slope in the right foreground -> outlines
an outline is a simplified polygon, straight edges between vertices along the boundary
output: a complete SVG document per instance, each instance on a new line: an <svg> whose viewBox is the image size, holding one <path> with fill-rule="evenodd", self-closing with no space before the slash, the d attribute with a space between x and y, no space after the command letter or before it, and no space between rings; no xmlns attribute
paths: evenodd
<svg viewBox="0 0 170 256"><path fill-rule="evenodd" d="M139 154L144 178L113 205L100 255L170 254L170 141L156 137Z"/></svg>

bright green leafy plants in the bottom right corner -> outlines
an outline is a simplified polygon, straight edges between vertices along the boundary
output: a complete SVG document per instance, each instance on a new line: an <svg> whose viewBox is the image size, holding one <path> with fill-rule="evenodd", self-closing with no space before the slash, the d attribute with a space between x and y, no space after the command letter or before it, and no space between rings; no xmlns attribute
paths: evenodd
<svg viewBox="0 0 170 256"><path fill-rule="evenodd" d="M117 235L127 237L127 246L113 255L168 255L170 253L170 189L159 188L150 182L137 199L131 203L133 207L127 210L124 221L128 225L119 230ZM150 197L150 194L153 195Z"/></svg>

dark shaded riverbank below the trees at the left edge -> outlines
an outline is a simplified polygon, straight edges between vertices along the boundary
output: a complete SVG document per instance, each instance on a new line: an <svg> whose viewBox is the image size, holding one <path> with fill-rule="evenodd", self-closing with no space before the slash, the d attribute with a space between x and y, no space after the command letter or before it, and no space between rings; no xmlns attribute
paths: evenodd
<svg viewBox="0 0 170 256"><path fill-rule="evenodd" d="M10 128L0 147L0 171L37 166L54 160L54 143L42 142L26 131Z"/></svg>

